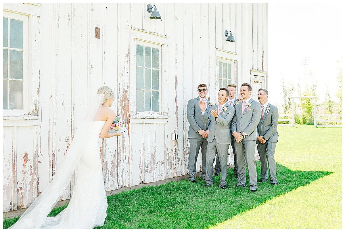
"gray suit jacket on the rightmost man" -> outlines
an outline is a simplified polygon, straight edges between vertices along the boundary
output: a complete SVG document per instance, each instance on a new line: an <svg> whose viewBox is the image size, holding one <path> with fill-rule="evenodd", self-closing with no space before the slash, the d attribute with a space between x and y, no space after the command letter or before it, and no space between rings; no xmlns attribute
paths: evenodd
<svg viewBox="0 0 345 232"><path fill-rule="evenodd" d="M267 111L267 108L269 108L268 111ZM269 103L267 105L267 108L264 112L263 119L261 119L261 116L260 116L260 121L257 126L258 128L257 136L264 136L264 138L267 140L266 143L277 143L278 142L277 126L278 126L278 118L279 118L278 108ZM259 143L259 141L256 141L256 143Z"/></svg>

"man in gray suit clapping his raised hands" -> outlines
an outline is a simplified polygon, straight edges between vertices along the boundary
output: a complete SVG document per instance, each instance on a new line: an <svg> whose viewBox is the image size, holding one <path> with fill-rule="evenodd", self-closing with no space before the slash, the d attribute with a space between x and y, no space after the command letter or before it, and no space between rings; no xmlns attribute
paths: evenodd
<svg viewBox="0 0 345 232"><path fill-rule="evenodd" d="M204 123L211 125L208 134L208 146L206 152L206 185L209 187L213 184L213 160L218 153L220 161L220 184L221 189L226 187L226 176L228 167L228 149L231 143L231 133L229 123L234 117L235 109L227 103L229 90L220 88L218 92L218 105L212 106L208 112L206 105L199 101L201 114L203 115Z"/></svg>

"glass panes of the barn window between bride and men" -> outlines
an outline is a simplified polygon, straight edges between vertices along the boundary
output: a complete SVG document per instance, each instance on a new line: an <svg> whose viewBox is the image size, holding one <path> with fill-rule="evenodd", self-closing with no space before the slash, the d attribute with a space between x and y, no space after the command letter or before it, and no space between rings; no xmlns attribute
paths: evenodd
<svg viewBox="0 0 345 232"><path fill-rule="evenodd" d="M137 44L137 112L159 111L160 49Z"/></svg>

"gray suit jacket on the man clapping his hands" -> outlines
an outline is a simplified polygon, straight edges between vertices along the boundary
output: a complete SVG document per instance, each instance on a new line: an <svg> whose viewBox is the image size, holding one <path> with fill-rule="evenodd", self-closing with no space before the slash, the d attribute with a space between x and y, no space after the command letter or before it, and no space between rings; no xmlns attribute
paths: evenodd
<svg viewBox="0 0 345 232"><path fill-rule="evenodd" d="M228 103L225 104L227 110L223 112L223 109L218 115L217 120L211 115L211 110L218 110L218 105L212 106L208 112L203 114L204 123L209 123L211 125L210 132L208 133L207 142L212 142L216 138L216 142L220 144L230 144L231 143L231 131L229 128L229 123L235 115L235 108L231 107Z"/></svg>

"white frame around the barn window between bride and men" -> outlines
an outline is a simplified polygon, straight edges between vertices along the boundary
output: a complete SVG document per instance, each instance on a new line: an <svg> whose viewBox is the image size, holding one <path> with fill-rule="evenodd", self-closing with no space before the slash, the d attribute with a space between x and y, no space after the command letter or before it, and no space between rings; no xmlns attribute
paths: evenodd
<svg viewBox="0 0 345 232"><path fill-rule="evenodd" d="M136 45L145 46L145 47L151 47L158 49L158 111L145 111L145 103L144 103L144 111L137 111L137 105L135 104L135 111L136 115L161 115L162 112L162 100L163 100L163 94L162 94L162 46L158 45L156 43L149 43L141 40L136 40ZM135 46L135 50L137 49L137 46ZM136 52L135 52L136 54ZM152 59L152 56L151 56ZM137 70L137 57L135 56L135 75ZM145 63L145 57L144 57L144 63ZM145 66L145 65L144 65ZM145 72L145 67L144 72ZM152 68L151 68L152 69ZM136 79L136 78L135 78ZM152 85L152 82L151 82ZM144 86L145 88L145 86ZM137 87L135 86L135 95L137 94ZM151 89L152 90L152 89ZM144 90L145 91L145 90ZM151 98L152 101L152 98ZM151 103L152 106L152 103Z"/></svg>

